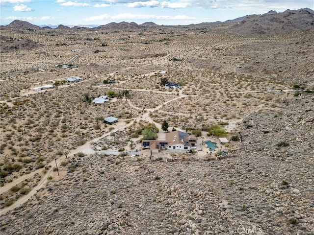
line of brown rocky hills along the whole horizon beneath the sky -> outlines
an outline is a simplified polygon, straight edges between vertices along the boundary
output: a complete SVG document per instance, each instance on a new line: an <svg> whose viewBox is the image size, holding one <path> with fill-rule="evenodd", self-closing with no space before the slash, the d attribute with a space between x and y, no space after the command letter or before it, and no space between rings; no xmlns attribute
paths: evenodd
<svg viewBox="0 0 314 235"><path fill-rule="evenodd" d="M246 15L238 17L233 20L227 20L225 22L214 22L214 23L200 23L191 25L208 25L208 24L230 24L228 30L243 35L267 35L273 33L285 33L293 30L304 30L314 28L314 11L309 8L302 8L298 10L286 10L282 13L270 10L269 12L262 15ZM74 29L89 29L94 28L98 30L141 30L147 27L169 27L165 25L158 25L154 22L146 22L143 24L136 24L134 22L120 22L120 23L109 23L99 26L91 25L92 27L85 27L84 25L73 26ZM175 25L172 25L175 26ZM170 26L170 27L172 27ZM13 29L13 30L38 30L57 28L57 29L70 29L69 26L65 25L45 25L43 27L30 24L26 21L15 20L12 23L1 26L1 29Z"/></svg>

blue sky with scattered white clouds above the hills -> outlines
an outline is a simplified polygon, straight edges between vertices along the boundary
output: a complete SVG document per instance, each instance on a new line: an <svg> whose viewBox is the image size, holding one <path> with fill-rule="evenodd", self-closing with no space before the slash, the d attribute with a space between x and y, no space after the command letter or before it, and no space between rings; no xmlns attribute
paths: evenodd
<svg viewBox="0 0 314 235"><path fill-rule="evenodd" d="M314 10L314 0L0 0L0 24L187 25L306 7Z"/></svg>

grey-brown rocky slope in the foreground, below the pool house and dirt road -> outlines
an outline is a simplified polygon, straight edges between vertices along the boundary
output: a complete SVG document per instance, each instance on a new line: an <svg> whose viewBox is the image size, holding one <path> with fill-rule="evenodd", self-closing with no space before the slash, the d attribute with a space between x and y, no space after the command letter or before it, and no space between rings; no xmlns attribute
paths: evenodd
<svg viewBox="0 0 314 235"><path fill-rule="evenodd" d="M1 232L313 235L314 98L289 101L244 120L238 157L72 158L64 178L1 215Z"/></svg>

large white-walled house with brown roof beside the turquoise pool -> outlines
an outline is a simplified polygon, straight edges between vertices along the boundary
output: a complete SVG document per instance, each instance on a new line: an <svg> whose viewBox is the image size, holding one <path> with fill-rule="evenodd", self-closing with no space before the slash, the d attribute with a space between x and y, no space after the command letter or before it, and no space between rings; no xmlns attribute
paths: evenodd
<svg viewBox="0 0 314 235"><path fill-rule="evenodd" d="M142 141L142 146L144 148L149 148L155 153L159 152L161 149L167 149L175 152L186 152L191 149L196 149L196 145L196 137L182 131L166 133L165 140Z"/></svg>

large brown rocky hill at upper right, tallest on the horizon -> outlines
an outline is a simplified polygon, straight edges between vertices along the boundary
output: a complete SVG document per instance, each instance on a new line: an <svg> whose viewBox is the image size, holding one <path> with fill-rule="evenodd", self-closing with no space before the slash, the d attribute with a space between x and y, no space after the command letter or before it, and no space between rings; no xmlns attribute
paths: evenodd
<svg viewBox="0 0 314 235"><path fill-rule="evenodd" d="M267 35L314 28L314 11L308 8L250 15L229 27L242 35Z"/></svg>

